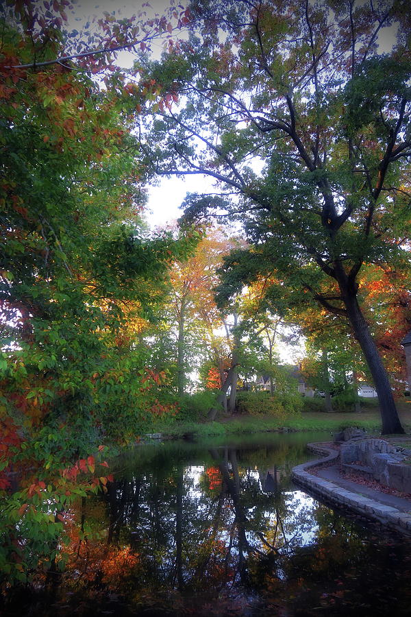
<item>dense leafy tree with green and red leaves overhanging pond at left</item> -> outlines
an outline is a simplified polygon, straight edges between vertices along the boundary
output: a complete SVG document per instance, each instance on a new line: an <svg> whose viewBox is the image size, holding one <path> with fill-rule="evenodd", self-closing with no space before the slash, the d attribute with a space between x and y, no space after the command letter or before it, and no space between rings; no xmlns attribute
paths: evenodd
<svg viewBox="0 0 411 617"><path fill-rule="evenodd" d="M62 63L10 68L62 51L52 23L25 26L2 22L0 51L0 561L10 581L55 553L62 505L107 483L101 441L135 441L175 413L138 333L171 263L198 239L147 237L123 100Z"/></svg>

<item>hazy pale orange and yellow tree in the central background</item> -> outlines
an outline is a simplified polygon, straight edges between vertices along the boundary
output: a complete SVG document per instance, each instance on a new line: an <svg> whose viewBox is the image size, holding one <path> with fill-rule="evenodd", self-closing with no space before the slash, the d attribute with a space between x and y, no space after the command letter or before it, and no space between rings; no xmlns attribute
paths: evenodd
<svg viewBox="0 0 411 617"><path fill-rule="evenodd" d="M184 237L187 230L169 226L172 234ZM169 272L169 293L158 315L158 324L147 332L152 338L153 367L169 370L170 384L183 396L188 374L203 373L211 365L219 368L224 380L227 345L219 329L224 315L214 300L216 274L223 256L238 245L218 228L200 229L199 242L192 254L175 261ZM206 369L206 365L208 368ZM205 380L206 381L206 380Z"/></svg>

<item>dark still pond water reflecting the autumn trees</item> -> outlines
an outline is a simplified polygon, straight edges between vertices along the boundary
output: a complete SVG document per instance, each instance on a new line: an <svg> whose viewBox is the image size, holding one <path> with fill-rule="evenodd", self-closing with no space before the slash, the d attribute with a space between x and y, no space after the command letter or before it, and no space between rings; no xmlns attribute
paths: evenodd
<svg viewBox="0 0 411 617"><path fill-rule="evenodd" d="M14 598L44 616L410 616L411 542L290 481L320 435L140 447L69 513L62 574Z"/></svg>

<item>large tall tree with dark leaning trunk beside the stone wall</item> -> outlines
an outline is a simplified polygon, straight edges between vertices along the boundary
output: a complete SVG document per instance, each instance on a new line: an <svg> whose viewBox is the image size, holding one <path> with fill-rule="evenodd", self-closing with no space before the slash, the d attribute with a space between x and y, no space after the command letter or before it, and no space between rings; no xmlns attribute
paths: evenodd
<svg viewBox="0 0 411 617"><path fill-rule="evenodd" d="M162 99L186 101L147 117L152 173L216 180L220 195L191 196L186 218L242 221L250 247L226 262L232 293L274 271L294 298L309 293L349 322L377 388L383 433L403 429L359 275L366 264L409 264L404 7L196 1L182 52L145 73L162 84ZM282 298L278 286L267 293Z"/></svg>

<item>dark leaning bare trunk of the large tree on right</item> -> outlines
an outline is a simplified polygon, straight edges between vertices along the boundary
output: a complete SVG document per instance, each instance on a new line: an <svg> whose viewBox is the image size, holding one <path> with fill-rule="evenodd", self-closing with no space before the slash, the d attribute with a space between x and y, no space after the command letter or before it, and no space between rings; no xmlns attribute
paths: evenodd
<svg viewBox="0 0 411 617"><path fill-rule="evenodd" d="M351 326L353 327L354 335L360 343L360 347L365 356L366 363L369 366L371 375L373 377L375 389L377 390L379 409L382 420L382 435L389 435L390 433L404 433L404 429L401 426L397 409L395 407L393 390L391 389L390 382L388 380L388 374L382 363L382 359L379 356L377 346L374 339L371 336L364 315L358 304L356 295L347 292L343 293L345 308L347 309L347 315Z"/></svg>

